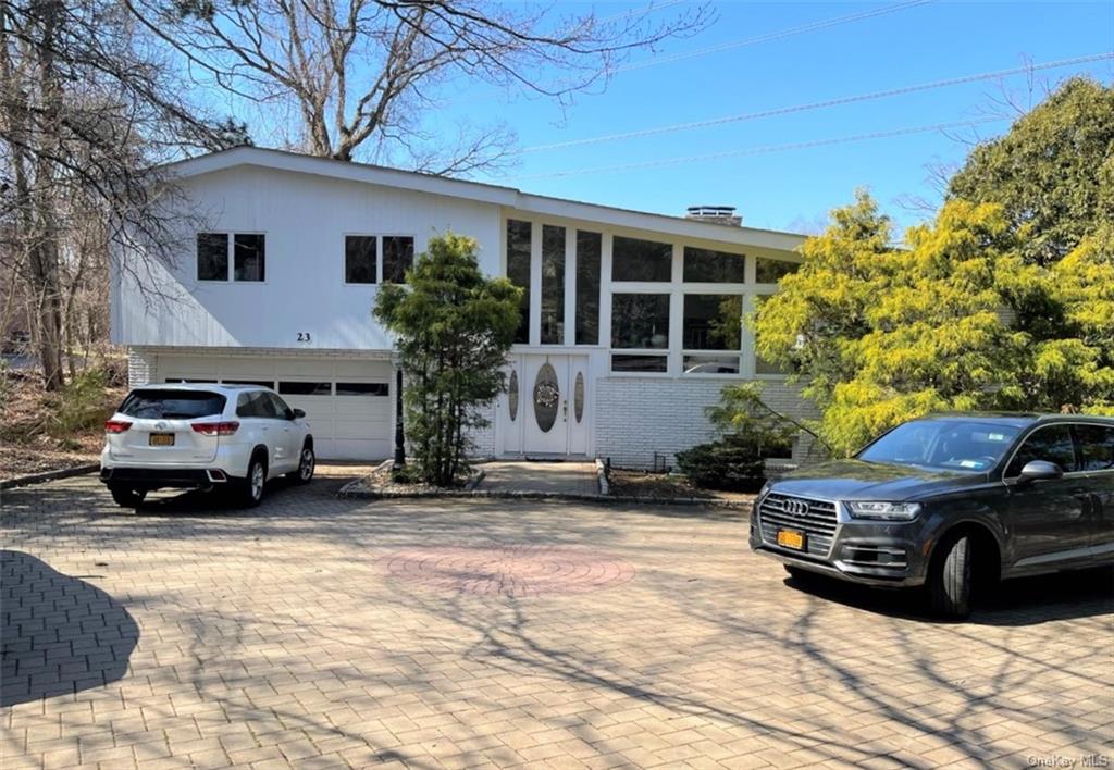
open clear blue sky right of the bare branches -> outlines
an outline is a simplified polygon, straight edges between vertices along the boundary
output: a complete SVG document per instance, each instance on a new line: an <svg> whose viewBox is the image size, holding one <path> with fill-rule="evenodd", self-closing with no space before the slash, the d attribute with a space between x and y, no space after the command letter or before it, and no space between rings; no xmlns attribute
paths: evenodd
<svg viewBox="0 0 1114 770"><path fill-rule="evenodd" d="M597 3L602 14L641 3ZM694 38L670 41L632 61L713 47L895 3L721 2L717 19ZM569 4L566 10L580 6ZM671 10L659 11L667 14ZM922 82L1114 51L1114 2L929 2L783 39L620 72L564 114L541 99L508 100L486 87L455 97L450 113L485 123L501 115L522 147L617 131L805 105ZM1072 74L1114 79L1114 62L1048 70L1038 85ZM903 205L934 197L930 164L957 164L958 139L990 137L1008 120L807 149L739 155L567 177L571 169L807 143L985 118L991 97L1012 90L1027 101L1024 76L981 81L773 118L524 154L505 176L482 181L532 193L680 214L691 204L735 205L755 227L814 231L829 209L866 186L901 224L924 216ZM1037 94L1039 96L1039 94ZM446 116L451 117L450 116Z"/></svg>

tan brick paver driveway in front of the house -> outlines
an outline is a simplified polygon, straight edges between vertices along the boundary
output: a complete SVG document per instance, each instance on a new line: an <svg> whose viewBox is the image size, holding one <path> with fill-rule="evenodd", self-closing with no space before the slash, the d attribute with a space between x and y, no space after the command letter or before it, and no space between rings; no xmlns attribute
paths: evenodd
<svg viewBox="0 0 1114 770"><path fill-rule="evenodd" d="M2 766L1083 767L1108 574L971 622L786 582L737 514L3 497ZM820 593L817 593L819 591ZM1102 762L1102 760L1098 760Z"/></svg>

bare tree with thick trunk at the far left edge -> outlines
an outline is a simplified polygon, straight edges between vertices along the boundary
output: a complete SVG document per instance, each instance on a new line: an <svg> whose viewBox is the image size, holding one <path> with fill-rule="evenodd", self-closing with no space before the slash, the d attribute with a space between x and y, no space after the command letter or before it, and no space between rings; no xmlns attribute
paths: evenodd
<svg viewBox="0 0 1114 770"><path fill-rule="evenodd" d="M69 315L89 285L104 303L111 255L169 256L174 188L153 167L232 128L178 101L148 50L113 0L0 0L0 261L23 282L50 390L65 381ZM149 271L144 259L118 266Z"/></svg>

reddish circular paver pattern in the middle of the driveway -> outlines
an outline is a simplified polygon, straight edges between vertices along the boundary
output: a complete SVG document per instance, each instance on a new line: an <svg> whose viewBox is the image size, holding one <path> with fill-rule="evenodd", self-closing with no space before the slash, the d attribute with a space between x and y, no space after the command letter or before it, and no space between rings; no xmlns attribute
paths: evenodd
<svg viewBox="0 0 1114 770"><path fill-rule="evenodd" d="M403 550L384 561L389 575L441 591L483 596L583 594L628 583L634 567L582 548L502 545Z"/></svg>

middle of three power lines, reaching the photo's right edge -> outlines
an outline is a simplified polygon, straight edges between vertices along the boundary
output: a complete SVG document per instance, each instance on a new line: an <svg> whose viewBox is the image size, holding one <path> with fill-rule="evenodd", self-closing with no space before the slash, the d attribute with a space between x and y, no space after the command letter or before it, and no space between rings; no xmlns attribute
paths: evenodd
<svg viewBox="0 0 1114 770"><path fill-rule="evenodd" d="M707 128L710 126L721 126L727 123L742 123L744 120L758 120L760 118L769 118L778 115L789 115L792 113L804 113L813 109L824 109L827 107L837 107L841 105L854 104L857 101L869 101L872 99L885 99L891 96L901 96L905 94L915 94L917 91L927 91L935 88L945 88L947 86L959 86L968 82L977 82L979 80L993 80L996 78L1009 77L1012 75L1024 75L1027 72L1034 72L1045 69L1057 69L1061 67L1071 67L1074 65L1089 64L1093 61L1102 61L1104 59L1114 59L1114 52L1106 53L1092 53L1088 56L1077 56L1071 59L1058 59L1056 61L1045 61L1038 65L1027 65L1024 67L1014 67L1012 69L999 69L993 72L979 72L978 75L966 75L958 78L948 78L946 80L935 80L932 82L922 82L916 86L905 86L902 88L891 88L883 91L873 91L871 94L859 94L857 96L846 96L838 99L827 99L824 101L812 101L804 105L794 105L792 107L778 107L774 109L766 109L756 113L743 113L741 115L729 115L720 118L710 118L707 120L694 120L691 123L676 123L667 126L657 126L654 128L643 128L633 131L623 131L618 134L603 134L600 136L586 137L584 139L569 139L568 142L556 142L548 145L535 145L532 147L524 147L518 150L520 154L527 153L540 153L548 149L564 149L566 147L579 147L582 145L593 145L603 142L616 142L618 139L634 139L644 136L655 136L657 134L672 134L674 131L692 130L694 128Z"/></svg>

